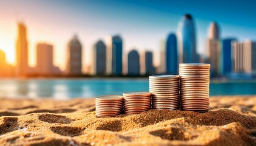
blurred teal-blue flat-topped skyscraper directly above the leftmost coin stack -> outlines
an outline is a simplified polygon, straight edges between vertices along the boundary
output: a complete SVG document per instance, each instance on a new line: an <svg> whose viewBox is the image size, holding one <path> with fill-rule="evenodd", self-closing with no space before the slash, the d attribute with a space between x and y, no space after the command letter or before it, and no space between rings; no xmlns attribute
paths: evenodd
<svg viewBox="0 0 256 146"><path fill-rule="evenodd" d="M112 37L112 75L123 72L123 41L121 36Z"/></svg>

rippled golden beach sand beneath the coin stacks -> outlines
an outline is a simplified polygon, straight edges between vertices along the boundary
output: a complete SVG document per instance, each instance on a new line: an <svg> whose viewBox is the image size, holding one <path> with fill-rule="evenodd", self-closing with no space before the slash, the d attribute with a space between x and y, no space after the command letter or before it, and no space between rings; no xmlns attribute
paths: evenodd
<svg viewBox="0 0 256 146"><path fill-rule="evenodd" d="M94 99L0 101L0 145L256 145L256 96L113 118L97 118Z"/></svg>

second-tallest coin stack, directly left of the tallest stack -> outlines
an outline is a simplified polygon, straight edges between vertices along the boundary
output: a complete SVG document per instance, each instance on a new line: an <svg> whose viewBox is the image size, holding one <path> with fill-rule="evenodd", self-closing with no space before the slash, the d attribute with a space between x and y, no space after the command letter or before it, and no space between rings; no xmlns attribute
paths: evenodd
<svg viewBox="0 0 256 146"><path fill-rule="evenodd" d="M149 91L152 93L152 108L180 109L179 75L149 76Z"/></svg>

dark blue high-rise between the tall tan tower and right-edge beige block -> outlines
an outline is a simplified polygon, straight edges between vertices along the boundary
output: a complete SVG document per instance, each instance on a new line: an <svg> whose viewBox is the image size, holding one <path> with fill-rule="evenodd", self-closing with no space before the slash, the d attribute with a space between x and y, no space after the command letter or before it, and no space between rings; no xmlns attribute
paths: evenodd
<svg viewBox="0 0 256 146"><path fill-rule="evenodd" d="M236 41L235 38L225 38L222 40L221 57L219 66L222 75L227 75L232 72L232 41Z"/></svg>

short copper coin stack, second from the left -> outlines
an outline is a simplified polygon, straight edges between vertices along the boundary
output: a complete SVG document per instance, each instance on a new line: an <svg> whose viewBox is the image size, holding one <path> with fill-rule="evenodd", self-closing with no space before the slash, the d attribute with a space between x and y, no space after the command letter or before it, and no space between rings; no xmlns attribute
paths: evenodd
<svg viewBox="0 0 256 146"><path fill-rule="evenodd" d="M150 92L124 92L124 113L139 114L151 109Z"/></svg>

